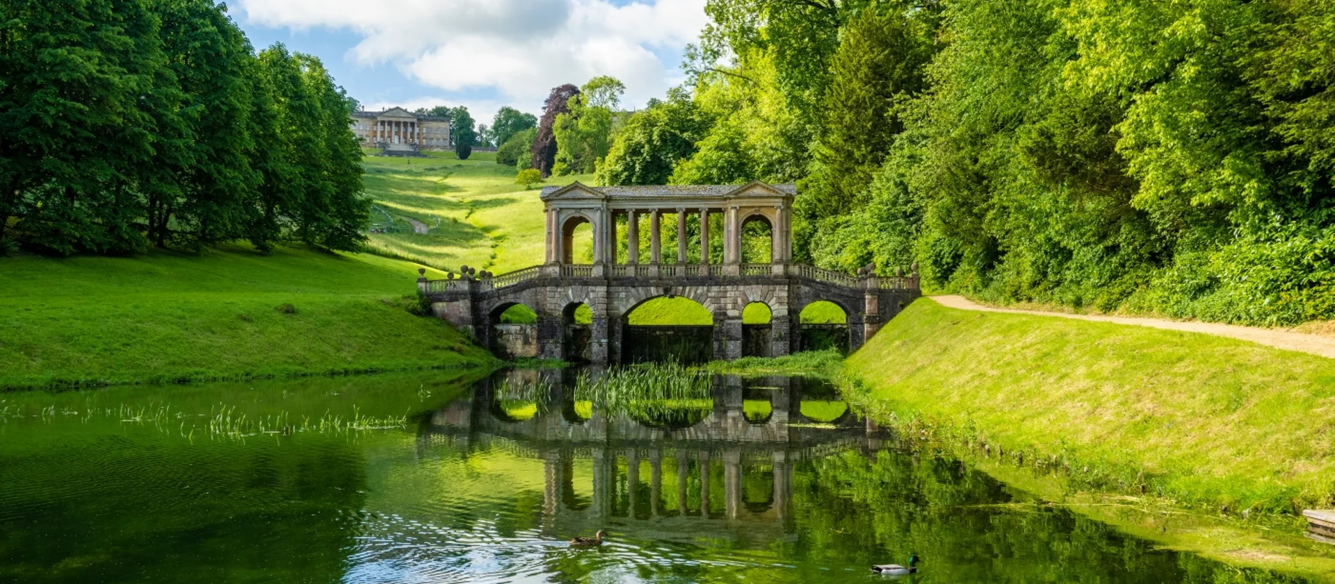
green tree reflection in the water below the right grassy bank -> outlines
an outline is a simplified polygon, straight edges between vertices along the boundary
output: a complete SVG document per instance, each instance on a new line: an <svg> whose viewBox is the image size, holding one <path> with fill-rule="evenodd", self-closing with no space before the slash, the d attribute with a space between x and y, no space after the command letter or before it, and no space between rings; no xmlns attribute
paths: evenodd
<svg viewBox="0 0 1335 584"><path fill-rule="evenodd" d="M999 563L1004 580L987 581L1302 581L1167 552L1063 508L1017 505L1027 497L959 460L845 452L800 465L793 483L798 537L821 555L917 553L937 581L979 581L980 565Z"/></svg>

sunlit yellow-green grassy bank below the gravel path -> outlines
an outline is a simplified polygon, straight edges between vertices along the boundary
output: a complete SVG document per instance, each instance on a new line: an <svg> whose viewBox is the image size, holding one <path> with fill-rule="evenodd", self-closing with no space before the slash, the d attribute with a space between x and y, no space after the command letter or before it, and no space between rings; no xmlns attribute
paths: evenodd
<svg viewBox="0 0 1335 584"><path fill-rule="evenodd" d="M1196 508L1332 503L1335 361L1196 333L913 303L845 367L897 416L971 428L1072 488Z"/></svg>

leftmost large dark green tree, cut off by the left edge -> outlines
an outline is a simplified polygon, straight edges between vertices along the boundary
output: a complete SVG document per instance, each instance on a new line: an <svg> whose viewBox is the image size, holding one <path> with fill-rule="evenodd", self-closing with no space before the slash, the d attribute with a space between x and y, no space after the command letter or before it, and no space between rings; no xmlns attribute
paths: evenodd
<svg viewBox="0 0 1335 584"><path fill-rule="evenodd" d="M180 131L158 19L139 0L7 1L0 47L0 232L16 217L57 253L139 249L138 189L179 153L156 128Z"/></svg>

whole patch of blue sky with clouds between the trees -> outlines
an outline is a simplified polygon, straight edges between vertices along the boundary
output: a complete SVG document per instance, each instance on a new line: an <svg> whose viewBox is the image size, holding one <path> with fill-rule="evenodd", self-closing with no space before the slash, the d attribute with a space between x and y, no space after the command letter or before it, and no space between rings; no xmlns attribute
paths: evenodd
<svg viewBox="0 0 1335 584"><path fill-rule="evenodd" d="M681 81L704 0L236 0L256 48L316 55L367 109L467 105L478 123L511 105L541 113L562 83L611 75L623 107Z"/></svg>

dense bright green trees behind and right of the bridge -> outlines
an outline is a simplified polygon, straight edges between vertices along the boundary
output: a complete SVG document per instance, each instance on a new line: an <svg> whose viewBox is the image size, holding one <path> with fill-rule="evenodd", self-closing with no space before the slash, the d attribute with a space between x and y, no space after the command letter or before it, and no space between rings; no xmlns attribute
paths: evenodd
<svg viewBox="0 0 1335 584"><path fill-rule="evenodd" d="M602 181L797 180L801 259L984 299L1335 319L1335 3L706 12Z"/></svg>

